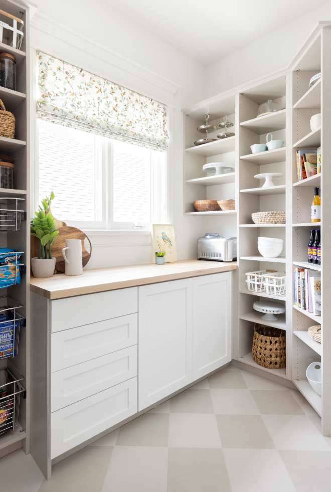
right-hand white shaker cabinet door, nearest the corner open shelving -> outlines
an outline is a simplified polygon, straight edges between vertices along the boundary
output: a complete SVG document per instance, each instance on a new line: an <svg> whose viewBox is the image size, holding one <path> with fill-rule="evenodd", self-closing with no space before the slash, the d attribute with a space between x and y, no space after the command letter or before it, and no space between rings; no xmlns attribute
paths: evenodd
<svg viewBox="0 0 331 492"><path fill-rule="evenodd" d="M231 278L193 279L193 381L231 361Z"/></svg>

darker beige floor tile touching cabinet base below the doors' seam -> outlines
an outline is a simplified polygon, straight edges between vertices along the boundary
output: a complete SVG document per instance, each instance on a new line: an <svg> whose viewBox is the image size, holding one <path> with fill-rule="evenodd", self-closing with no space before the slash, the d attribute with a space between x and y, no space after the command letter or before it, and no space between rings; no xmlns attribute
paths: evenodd
<svg viewBox="0 0 331 492"><path fill-rule="evenodd" d="M214 413L209 390L185 390L170 400L171 413Z"/></svg>

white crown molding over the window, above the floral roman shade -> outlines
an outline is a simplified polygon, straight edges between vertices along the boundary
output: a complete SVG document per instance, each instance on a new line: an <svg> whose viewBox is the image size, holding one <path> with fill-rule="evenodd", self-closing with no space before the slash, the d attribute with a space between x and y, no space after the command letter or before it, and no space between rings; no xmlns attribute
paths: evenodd
<svg viewBox="0 0 331 492"><path fill-rule="evenodd" d="M156 87L165 90L171 94L176 94L177 90L181 87L176 82L173 82L167 77L145 68L143 65L126 58L113 50L110 50L106 46L97 43L93 39L74 31L73 29L61 24L50 17L36 12L36 14L31 19L31 27L39 32L50 35L68 45L77 48L78 50L98 58L103 63L108 63L113 65L125 72L134 75ZM40 47L39 47L40 48ZM55 53L54 53L55 55Z"/></svg>

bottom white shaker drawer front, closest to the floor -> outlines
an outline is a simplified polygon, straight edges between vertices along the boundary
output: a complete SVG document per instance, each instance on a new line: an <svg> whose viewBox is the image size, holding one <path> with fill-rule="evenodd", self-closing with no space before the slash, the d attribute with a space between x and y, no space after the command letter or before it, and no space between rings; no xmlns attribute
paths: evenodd
<svg viewBox="0 0 331 492"><path fill-rule="evenodd" d="M137 378L50 414L51 459L137 411Z"/></svg>

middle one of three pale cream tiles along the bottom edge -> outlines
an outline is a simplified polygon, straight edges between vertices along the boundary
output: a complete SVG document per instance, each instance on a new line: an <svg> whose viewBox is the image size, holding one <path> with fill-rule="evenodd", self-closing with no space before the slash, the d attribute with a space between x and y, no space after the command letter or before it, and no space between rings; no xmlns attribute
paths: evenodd
<svg viewBox="0 0 331 492"><path fill-rule="evenodd" d="M116 446L102 492L167 492L167 464L166 447Z"/></svg>

